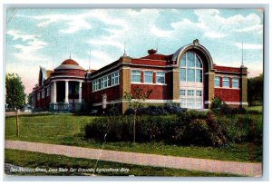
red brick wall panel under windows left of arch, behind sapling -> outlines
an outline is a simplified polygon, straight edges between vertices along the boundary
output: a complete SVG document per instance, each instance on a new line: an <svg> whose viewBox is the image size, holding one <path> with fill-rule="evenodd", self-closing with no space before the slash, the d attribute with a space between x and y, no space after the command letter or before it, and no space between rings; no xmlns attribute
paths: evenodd
<svg viewBox="0 0 272 185"><path fill-rule="evenodd" d="M168 100L169 98L167 85L131 84L131 93L136 87L140 87L144 93L150 89L153 90L148 99Z"/></svg>

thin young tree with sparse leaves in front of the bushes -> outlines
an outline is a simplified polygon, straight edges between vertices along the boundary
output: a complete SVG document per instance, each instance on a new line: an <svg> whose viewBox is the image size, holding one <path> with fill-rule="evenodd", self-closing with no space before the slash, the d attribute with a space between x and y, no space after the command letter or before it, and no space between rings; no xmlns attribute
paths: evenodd
<svg viewBox="0 0 272 185"><path fill-rule="evenodd" d="M136 141L136 118L138 115L139 109L142 107L142 103L151 95L152 90L148 90L146 93L143 93L140 87L136 87L133 90L133 93L125 92L123 99L129 102L129 107L133 110L133 143Z"/></svg>

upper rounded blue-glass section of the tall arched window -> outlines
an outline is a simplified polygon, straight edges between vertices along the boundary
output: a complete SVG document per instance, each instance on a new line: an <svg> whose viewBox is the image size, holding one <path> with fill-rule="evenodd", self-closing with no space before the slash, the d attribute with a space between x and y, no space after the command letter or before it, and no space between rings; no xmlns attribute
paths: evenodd
<svg viewBox="0 0 272 185"><path fill-rule="evenodd" d="M197 54L187 52L180 61L180 81L202 83L202 63Z"/></svg>

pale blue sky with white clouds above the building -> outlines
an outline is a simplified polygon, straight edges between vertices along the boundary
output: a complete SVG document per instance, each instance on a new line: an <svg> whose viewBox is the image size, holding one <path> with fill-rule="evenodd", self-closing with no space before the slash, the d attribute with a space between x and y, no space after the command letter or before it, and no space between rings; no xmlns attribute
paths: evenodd
<svg viewBox="0 0 272 185"><path fill-rule="evenodd" d="M53 70L71 58L83 68L131 57L173 54L199 39L218 65L263 72L262 9L25 9L5 15L5 73L18 73L31 93L39 66ZM242 50L243 45L243 50ZM91 54L90 54L91 51Z"/></svg>

